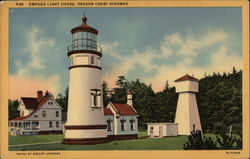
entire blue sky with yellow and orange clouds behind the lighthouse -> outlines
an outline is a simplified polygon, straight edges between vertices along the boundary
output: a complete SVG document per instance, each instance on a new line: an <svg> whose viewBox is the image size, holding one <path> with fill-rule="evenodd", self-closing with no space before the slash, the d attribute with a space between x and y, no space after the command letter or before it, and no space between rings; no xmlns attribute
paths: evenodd
<svg viewBox="0 0 250 159"><path fill-rule="evenodd" d="M121 75L157 92L186 73L200 79L242 69L241 8L15 8L9 12L10 99L37 90L64 94L70 30L84 12L99 31L102 78L110 88Z"/></svg>

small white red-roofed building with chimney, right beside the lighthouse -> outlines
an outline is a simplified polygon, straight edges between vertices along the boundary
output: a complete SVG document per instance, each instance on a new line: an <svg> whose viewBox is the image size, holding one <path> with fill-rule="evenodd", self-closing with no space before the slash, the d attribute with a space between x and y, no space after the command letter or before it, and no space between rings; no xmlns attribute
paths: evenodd
<svg viewBox="0 0 250 159"><path fill-rule="evenodd" d="M132 102L132 93L127 95L127 104L109 102L104 108L107 134L110 140L135 139L138 137L139 116Z"/></svg>

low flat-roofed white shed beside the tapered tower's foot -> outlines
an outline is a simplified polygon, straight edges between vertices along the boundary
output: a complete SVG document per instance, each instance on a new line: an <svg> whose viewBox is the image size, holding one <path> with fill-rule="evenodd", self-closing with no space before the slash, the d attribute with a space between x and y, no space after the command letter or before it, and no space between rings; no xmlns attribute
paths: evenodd
<svg viewBox="0 0 250 159"><path fill-rule="evenodd" d="M169 137L178 135L177 123L147 123L148 137Z"/></svg>

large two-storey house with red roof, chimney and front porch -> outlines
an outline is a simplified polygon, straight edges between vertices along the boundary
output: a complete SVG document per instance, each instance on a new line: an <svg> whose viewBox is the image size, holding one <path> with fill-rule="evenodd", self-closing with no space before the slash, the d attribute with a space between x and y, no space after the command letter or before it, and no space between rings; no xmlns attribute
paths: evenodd
<svg viewBox="0 0 250 159"><path fill-rule="evenodd" d="M22 97L18 111L20 116L9 121L10 135L62 133L62 107L42 91L37 98Z"/></svg>

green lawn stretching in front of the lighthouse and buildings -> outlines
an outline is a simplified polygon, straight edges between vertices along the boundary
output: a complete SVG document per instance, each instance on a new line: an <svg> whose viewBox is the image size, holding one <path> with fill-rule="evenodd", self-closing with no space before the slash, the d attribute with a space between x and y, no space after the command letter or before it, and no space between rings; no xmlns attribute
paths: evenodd
<svg viewBox="0 0 250 159"><path fill-rule="evenodd" d="M140 132L139 137L145 137L146 132ZM10 136L10 145L62 141L63 135ZM143 138L135 140L112 141L97 145L32 145L10 147L9 150L182 150L187 142L187 136L167 138Z"/></svg>

